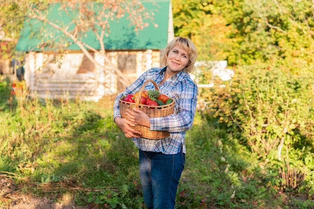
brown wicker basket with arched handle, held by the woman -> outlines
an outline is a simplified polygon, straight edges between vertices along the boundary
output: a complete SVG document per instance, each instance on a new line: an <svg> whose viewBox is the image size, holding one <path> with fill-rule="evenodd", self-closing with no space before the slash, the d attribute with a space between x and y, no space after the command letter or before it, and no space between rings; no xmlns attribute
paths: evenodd
<svg viewBox="0 0 314 209"><path fill-rule="evenodd" d="M153 80L149 79L149 80L147 80L147 81L145 81L143 83L143 86L139 90L139 95L141 95L141 93L144 91L145 86L149 82L151 82L154 85L155 90L159 90L158 85L156 84L156 82L154 82ZM173 98L171 98L171 99L173 100L173 102L168 104L168 105L149 106L149 105L140 104L140 102L141 102L140 99L137 99L136 103L132 103L132 102L125 102L125 101L122 100L122 98L120 98L119 99L119 108L120 108L121 117L127 119L126 111L128 109L133 111L133 107L136 107L139 110L141 110L144 113L146 113L149 118L164 117L164 116L171 115L171 114L174 113L174 110L175 110L174 99ZM135 130L140 131L142 133L141 137L144 137L144 138L147 138L147 139L162 139L162 138L170 136L169 132L166 132L166 131L151 131L146 126L135 125L135 127L133 127L133 128Z"/></svg>

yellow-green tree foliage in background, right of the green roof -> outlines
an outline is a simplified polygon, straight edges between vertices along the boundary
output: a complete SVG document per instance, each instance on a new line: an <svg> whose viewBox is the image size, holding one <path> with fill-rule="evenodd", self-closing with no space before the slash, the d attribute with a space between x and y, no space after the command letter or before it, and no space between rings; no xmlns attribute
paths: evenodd
<svg viewBox="0 0 314 209"><path fill-rule="evenodd" d="M200 60L233 65L276 63L310 75L313 63L311 1L173 1L176 36L188 36Z"/></svg>

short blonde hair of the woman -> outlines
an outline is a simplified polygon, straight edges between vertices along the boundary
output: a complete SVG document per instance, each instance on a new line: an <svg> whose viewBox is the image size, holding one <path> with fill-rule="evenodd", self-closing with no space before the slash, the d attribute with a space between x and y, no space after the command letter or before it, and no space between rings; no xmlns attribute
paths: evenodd
<svg viewBox="0 0 314 209"><path fill-rule="evenodd" d="M165 49L165 54L162 59L162 64L167 65L168 54L176 46L182 47L183 49L185 49L185 51L187 51L188 56L189 56L189 63L185 67L184 72L192 73L194 70L194 64L197 58L197 49L189 38L184 38L184 37L179 36L175 38L174 40L172 40L171 42L169 42Z"/></svg>

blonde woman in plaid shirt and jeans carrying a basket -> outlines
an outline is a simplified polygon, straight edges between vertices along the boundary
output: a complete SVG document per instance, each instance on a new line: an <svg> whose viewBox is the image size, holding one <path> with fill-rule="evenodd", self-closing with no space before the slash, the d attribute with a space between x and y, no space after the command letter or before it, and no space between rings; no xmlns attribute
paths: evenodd
<svg viewBox="0 0 314 209"><path fill-rule="evenodd" d="M147 70L118 94L114 102L115 123L126 137L133 138L139 150L139 174L147 208L175 208L178 183L185 164L185 135L192 127L197 103L198 88L189 75L196 58L197 50L192 41L177 37L165 49L162 62L166 67ZM175 99L175 113L149 118L134 108L134 111L127 112L129 120L121 118L119 98L135 94L148 79L159 85L161 94ZM148 83L145 89L154 90L154 86ZM135 125L168 131L170 136L159 140L142 138L141 133L132 128Z"/></svg>

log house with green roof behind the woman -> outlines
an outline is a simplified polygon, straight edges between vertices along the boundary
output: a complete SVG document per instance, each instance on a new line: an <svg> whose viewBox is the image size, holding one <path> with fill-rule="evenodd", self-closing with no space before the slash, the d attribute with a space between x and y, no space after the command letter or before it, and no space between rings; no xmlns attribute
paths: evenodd
<svg viewBox="0 0 314 209"><path fill-rule="evenodd" d="M60 10L60 4L52 4L47 10L47 17L54 23L69 24L71 17ZM141 1L141 4L148 11L153 11L153 24L137 34L127 17L111 20L110 33L103 39L110 62L130 81L151 67L160 67L164 48L174 38L171 1ZM67 47L67 53L62 56L56 56L56 52L50 48L42 50L39 46L45 43L34 36L34 32L43 33L41 31L47 35L54 33L58 44L65 44L61 41L61 32L56 32L48 24L39 20L25 20L16 49L25 52L24 79L32 94L42 98L66 96L98 101L126 87L127 84L118 80L111 65L98 52L91 55L105 67L91 62L74 43ZM99 41L93 33L87 33L84 40L92 48L100 50Z"/></svg>

